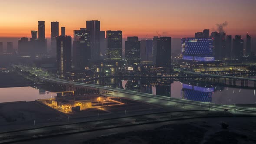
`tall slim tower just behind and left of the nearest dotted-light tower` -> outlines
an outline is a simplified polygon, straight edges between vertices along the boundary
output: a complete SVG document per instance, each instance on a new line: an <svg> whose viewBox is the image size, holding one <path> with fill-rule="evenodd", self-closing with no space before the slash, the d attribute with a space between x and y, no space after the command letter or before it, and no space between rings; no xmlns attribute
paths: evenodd
<svg viewBox="0 0 256 144"><path fill-rule="evenodd" d="M59 22L51 22L51 54L56 56L56 37L59 36Z"/></svg>

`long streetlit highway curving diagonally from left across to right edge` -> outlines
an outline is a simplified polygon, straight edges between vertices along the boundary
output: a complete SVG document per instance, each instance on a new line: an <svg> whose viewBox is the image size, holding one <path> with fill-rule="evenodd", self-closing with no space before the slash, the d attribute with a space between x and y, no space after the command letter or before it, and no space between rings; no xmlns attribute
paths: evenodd
<svg viewBox="0 0 256 144"><path fill-rule="evenodd" d="M233 113L236 113L237 111L244 111L246 113L248 113L248 112L255 113L256 112L256 108L237 107L236 105L218 105L218 104L213 104L213 103L209 103L209 102L168 98L166 96L152 95L152 94L142 93L142 92L135 92L135 91L125 90L125 89L121 89L121 88L112 88L112 87L106 87L106 86L102 86L102 85L92 85L92 84L66 81L63 79L55 78L47 73L44 73L44 72L41 72L38 70L33 70L30 67L26 67L23 65L14 65L14 66L17 66L24 71L29 71L29 72L37 75L40 79L43 79L47 82L75 85L75 86L84 86L84 87L90 87L90 88L100 88L101 90L112 91L113 96L116 96L116 97L130 98L133 100L144 101L144 102L148 102L148 103L152 103L152 104L156 104L156 105L161 105L164 107L169 107L169 106L175 107L177 105L177 106L184 107L184 110L201 108L201 109L209 109L212 111L224 111L224 109L227 109Z"/></svg>

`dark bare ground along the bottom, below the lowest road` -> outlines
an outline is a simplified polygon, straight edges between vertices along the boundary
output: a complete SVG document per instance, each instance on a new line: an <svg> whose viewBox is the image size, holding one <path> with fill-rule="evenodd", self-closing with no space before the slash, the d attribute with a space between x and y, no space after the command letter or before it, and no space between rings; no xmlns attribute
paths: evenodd
<svg viewBox="0 0 256 144"><path fill-rule="evenodd" d="M221 121L229 124L221 127ZM197 118L49 137L16 144L256 144L256 118Z"/></svg>

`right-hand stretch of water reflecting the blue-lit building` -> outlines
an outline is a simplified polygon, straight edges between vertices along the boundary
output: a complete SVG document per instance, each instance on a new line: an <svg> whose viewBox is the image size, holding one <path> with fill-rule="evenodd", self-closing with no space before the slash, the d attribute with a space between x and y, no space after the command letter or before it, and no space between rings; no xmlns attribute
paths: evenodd
<svg viewBox="0 0 256 144"><path fill-rule="evenodd" d="M256 104L255 90L223 87L221 85L205 85L193 82L178 82L168 79L100 79L90 82L96 85L123 88L145 92L153 95L163 95L172 98L182 98L193 101L212 102L223 105Z"/></svg>

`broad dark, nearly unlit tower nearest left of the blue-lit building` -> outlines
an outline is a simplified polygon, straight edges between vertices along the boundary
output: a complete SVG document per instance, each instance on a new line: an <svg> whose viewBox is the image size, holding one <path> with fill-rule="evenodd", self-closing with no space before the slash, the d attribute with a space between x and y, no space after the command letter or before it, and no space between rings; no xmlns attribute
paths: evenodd
<svg viewBox="0 0 256 144"><path fill-rule="evenodd" d="M156 66L171 68L171 37L157 38Z"/></svg>

